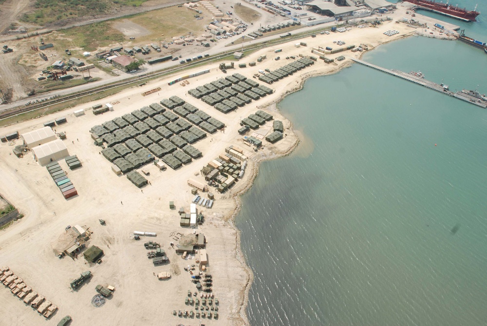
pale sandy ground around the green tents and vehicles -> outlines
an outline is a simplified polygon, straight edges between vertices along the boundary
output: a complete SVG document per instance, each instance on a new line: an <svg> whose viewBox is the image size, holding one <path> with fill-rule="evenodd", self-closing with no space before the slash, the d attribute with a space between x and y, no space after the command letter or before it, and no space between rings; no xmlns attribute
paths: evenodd
<svg viewBox="0 0 487 326"><path fill-rule="evenodd" d="M402 16L403 13L397 15ZM400 33L393 37L383 34L384 31L391 29L398 30ZM267 55L267 59L262 63L256 67L229 70L228 73L238 72L251 78L258 70L265 68L274 70L290 62L291 60L285 59L287 56L312 55L312 46L333 45L336 48L336 44L332 41L340 39L346 42L346 46L365 43L369 49L373 49L382 43L411 35L414 31L414 28L406 24L389 21L378 28L353 28L345 33L309 37L302 40L307 42L307 47L296 48L294 46L296 41L279 45L279 48L282 48L279 61L274 60L277 56L274 48L264 48L241 60L248 63L256 61L259 56ZM196 231L204 232L208 239L206 248L209 271L213 275L213 293L220 301L220 318L203 319L202 323L247 325L244 309L252 275L245 266L239 249L239 234L230 217L240 207L239 195L249 189L257 175L258 163L290 153L299 143L299 132L293 129L290 121L281 116L275 103L286 94L300 89L307 77L336 73L351 64L350 57L359 56L360 53L347 51L327 57L337 58L340 55L344 55L347 59L335 64L325 64L318 60L313 66L270 85L276 91L274 94L253 101L227 115L201 100L187 96L188 89L225 77L225 74L217 70L215 64L207 67L210 69L209 74L188 79L190 85L186 87L179 83L168 86L169 80L180 77L171 76L98 101L118 102L114 105L113 112L95 116L89 108L96 103L88 103L56 115L0 129L0 134L12 131L19 131L22 134L42 127L45 121L61 115L66 116L68 123L56 127L56 130L67 133L68 139L65 140L65 144L69 153L76 154L83 164L82 168L70 171L66 163L60 161L60 165L68 172L79 194L65 200L46 168L39 166L30 153L19 159L11 154L12 146L6 143L0 144L0 170L2 171L0 193L25 214L25 217L13 226L0 231L0 265L9 266L23 278L27 285L59 307L59 311L50 320L45 321L44 317L32 311L30 307L26 307L6 288L0 287L2 302L0 325L56 325L66 314L73 317L72 325L174 325L179 323L198 325L199 321L196 319L187 320L172 315L173 310L194 310L193 307L184 304L187 290L195 291L195 287L190 283L190 275L183 268L195 262L194 259L186 261L181 255L176 255L174 250L170 249L169 243L174 241L174 232L183 234L192 232L189 228L179 226L177 216L179 207L189 209L193 197L190 187L187 186L187 179L193 178L204 182L203 177L198 175L201 168L224 153L225 147L229 145L237 145L244 149L249 157L249 166L244 178L229 192L218 194L212 189L211 191L215 193L215 204L212 209L202 209L206 222ZM203 69L198 67L187 73L191 74ZM156 87L161 87L161 91L149 96L141 96L142 92ZM225 133L217 132L208 135L204 140L194 144L193 146L203 152L204 156L177 171L168 169L165 172L158 172L154 165L146 166L144 169L150 172L147 178L151 185L141 191L125 176L116 176L112 173L111 163L99 154L100 148L93 145L89 130L94 125L172 95L180 96L200 110L223 121L227 127ZM73 111L80 108L87 110L86 115L75 117ZM242 136L237 131L240 128L240 117L255 113L258 109L270 112L275 119L281 119L284 122L286 137L275 145L264 140L264 148L255 153L253 148L244 144ZM271 123L261 127L260 132L270 130ZM20 140L16 142L16 144L20 143ZM312 150L312 145L304 144L300 146L297 154L307 155ZM176 210L169 209L169 201L175 202ZM107 226L101 226L98 223L99 218L105 219ZM68 257L64 259L56 257L53 244L65 232L64 228L67 225L76 224L86 226L93 232L90 244L104 250L102 264L87 264L81 256L74 261ZM130 236L134 230L157 232L157 237L145 238L137 242ZM143 247L143 243L147 240L161 243L168 253L169 265L152 266L150 260L146 258L147 250ZM87 269L94 275L91 281L77 291L71 291L70 281ZM171 279L157 280L153 273L157 274L161 271L171 272L173 274ZM116 288L112 298L100 308L93 307L90 302L96 294L94 287L97 284L109 284Z"/></svg>

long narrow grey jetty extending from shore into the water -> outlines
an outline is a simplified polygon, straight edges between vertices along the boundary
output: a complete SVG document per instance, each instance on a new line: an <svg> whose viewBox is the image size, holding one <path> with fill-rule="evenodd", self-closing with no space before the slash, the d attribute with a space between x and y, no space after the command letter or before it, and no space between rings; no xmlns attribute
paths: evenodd
<svg viewBox="0 0 487 326"><path fill-rule="evenodd" d="M364 61L364 60L360 60L360 59L357 59L357 58L351 58L351 59L353 61L355 61L356 63L359 63L361 65L364 65L364 66L373 68L375 70L381 71L381 72L386 73L386 74L389 74L389 75L393 75L395 77L399 77L399 78L402 78L402 79L406 79L408 81L411 81L411 82L413 82L415 84L424 86L426 88L429 88L429 89L431 89L433 91L436 91L436 92L439 92L441 94L458 98L458 99L460 99L462 101L468 102L468 103L473 104L473 105L476 105L476 106L480 106L481 108L484 108L484 109L487 108L487 101L485 101L485 100L483 100L481 98L478 98L476 96L469 95L468 93L466 93L468 91L465 91L465 92L462 91L462 92L456 92L456 93L450 92L448 90L448 86L443 85L443 84L435 84L432 81L426 80L423 77L420 77L418 75L412 75L412 74L405 73L405 72L402 72L402 71L399 71L399 70L394 70L394 69L382 68L382 67L377 66L375 64L372 64L370 62L367 62L367 61Z"/></svg>

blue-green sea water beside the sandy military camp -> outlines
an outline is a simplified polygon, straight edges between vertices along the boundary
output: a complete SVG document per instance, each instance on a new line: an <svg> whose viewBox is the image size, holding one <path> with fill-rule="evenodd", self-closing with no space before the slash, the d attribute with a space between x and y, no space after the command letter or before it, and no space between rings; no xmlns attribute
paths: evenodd
<svg viewBox="0 0 487 326"><path fill-rule="evenodd" d="M486 54L459 41L364 59L487 93ZM487 325L487 110L357 64L279 107L302 142L236 217L251 325Z"/></svg>

